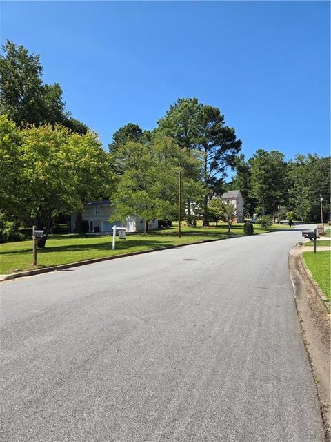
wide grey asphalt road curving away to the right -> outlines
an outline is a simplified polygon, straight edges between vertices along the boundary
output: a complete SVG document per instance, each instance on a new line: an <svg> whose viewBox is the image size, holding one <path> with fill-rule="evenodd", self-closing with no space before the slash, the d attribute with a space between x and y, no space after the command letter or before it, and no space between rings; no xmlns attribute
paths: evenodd
<svg viewBox="0 0 331 442"><path fill-rule="evenodd" d="M321 442L301 232L1 283L1 441Z"/></svg>

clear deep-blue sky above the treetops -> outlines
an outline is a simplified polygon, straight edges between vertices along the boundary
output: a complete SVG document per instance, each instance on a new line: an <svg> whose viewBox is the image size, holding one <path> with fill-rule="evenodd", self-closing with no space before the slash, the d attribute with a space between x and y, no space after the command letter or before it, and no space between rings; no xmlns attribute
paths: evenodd
<svg viewBox="0 0 331 442"><path fill-rule="evenodd" d="M327 1L1 2L1 42L41 55L103 145L153 128L177 97L218 106L246 157L329 155Z"/></svg>

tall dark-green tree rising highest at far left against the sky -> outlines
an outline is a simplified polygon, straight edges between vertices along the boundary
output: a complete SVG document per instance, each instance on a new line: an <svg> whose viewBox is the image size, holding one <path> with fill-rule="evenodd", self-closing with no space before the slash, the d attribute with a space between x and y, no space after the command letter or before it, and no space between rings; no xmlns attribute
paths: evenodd
<svg viewBox="0 0 331 442"><path fill-rule="evenodd" d="M87 128L66 111L59 84L44 84L39 55L7 40L0 55L0 113L19 127L63 124L79 133Z"/></svg>

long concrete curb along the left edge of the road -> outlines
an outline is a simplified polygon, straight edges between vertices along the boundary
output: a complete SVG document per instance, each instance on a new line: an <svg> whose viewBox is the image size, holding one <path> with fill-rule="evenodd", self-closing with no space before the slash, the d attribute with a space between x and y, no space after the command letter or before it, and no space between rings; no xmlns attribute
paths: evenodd
<svg viewBox="0 0 331 442"><path fill-rule="evenodd" d="M241 236L243 236L243 235L237 235L234 238L239 238ZM132 251L129 253L122 253L121 255L104 256L103 258L93 258L91 260L70 262L68 264L54 265L52 267L43 267L42 269L21 271L19 273L12 273L10 275L6 275L5 278L0 280L0 282L11 280L11 279L16 279L16 278L24 278L25 276L40 275L41 273L48 273L50 271L59 271L59 270L63 270L63 269L70 269L71 267L80 267L81 265L94 264L95 262L102 262L102 261L116 260L119 258L126 258L126 256L136 256L136 255L143 255L144 253L152 253L154 251L178 249L178 247L193 246L194 244L203 244L205 242L223 241L223 240L228 240L230 238L231 237L219 238L217 240L203 240L203 241L197 241L197 242L190 242L190 244L179 244L178 246L166 246L166 247L161 247L160 249Z"/></svg>

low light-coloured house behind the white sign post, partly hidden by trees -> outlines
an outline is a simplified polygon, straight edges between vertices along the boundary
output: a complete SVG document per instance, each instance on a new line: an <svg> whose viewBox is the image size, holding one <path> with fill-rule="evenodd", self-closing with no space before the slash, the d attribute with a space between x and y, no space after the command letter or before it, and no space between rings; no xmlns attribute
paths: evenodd
<svg viewBox="0 0 331 442"><path fill-rule="evenodd" d="M88 221L88 231L90 233L112 233L112 227L126 227L129 233L143 231L144 221L137 216L128 216L126 222L110 222L109 218L114 213L114 206L110 200L92 201L84 205L81 212L81 219ZM150 229L159 227L158 220L152 220L149 224ZM71 231L76 231L76 213L71 215Z"/></svg>

